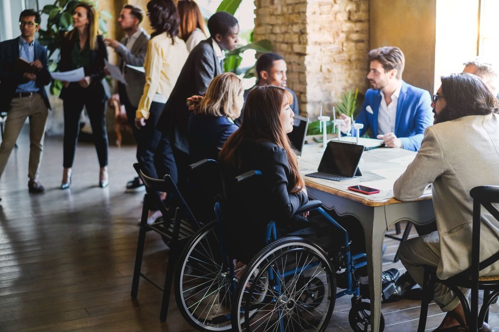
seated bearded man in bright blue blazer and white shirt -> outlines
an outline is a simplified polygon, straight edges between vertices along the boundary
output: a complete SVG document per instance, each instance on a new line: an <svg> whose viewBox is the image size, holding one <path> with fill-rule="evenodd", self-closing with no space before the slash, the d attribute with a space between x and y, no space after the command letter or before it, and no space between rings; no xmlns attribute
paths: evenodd
<svg viewBox="0 0 499 332"><path fill-rule="evenodd" d="M373 138L382 139L389 148L418 151L425 129L433 124L431 98L428 91L402 80L405 58L398 47L380 47L369 52L370 70L362 109L355 122L364 124L360 135L371 129ZM345 120L343 132L350 130Z"/></svg>

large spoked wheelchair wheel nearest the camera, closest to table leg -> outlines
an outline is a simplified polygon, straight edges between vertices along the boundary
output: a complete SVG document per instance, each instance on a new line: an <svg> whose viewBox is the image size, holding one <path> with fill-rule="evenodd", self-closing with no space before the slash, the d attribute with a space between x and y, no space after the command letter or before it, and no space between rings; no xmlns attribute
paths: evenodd
<svg viewBox="0 0 499 332"><path fill-rule="evenodd" d="M233 331L324 331L335 299L336 279L324 251L285 237L247 265L233 298Z"/></svg>

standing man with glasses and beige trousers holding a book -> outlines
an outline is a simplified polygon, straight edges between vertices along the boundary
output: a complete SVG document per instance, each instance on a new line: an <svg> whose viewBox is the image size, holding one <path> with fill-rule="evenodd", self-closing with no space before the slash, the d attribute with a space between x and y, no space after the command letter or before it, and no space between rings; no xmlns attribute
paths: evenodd
<svg viewBox="0 0 499 332"><path fill-rule="evenodd" d="M50 108L44 86L50 82L50 74L47 50L34 40L40 22L38 12L23 10L19 15L21 35L0 43L0 112L7 112L0 145L0 177L29 117L29 192L45 190L38 182L38 170Z"/></svg>

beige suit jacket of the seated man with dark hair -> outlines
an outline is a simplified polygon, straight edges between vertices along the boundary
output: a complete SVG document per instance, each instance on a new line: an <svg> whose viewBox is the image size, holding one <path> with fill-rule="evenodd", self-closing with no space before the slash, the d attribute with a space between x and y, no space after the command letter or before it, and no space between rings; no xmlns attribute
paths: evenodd
<svg viewBox="0 0 499 332"><path fill-rule="evenodd" d="M395 197L408 201L423 194L429 184L440 241L437 276L447 279L471 266L470 190L499 185L499 115L467 116L428 127L416 158L393 190ZM496 253L498 239L499 222L483 212L481 261ZM499 264L480 274L499 274Z"/></svg>

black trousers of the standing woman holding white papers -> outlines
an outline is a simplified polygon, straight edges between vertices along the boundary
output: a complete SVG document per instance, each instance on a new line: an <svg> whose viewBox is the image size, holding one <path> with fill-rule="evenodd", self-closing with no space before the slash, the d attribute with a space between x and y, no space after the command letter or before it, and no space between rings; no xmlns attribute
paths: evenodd
<svg viewBox="0 0 499 332"><path fill-rule="evenodd" d="M83 90L83 89L81 89ZM88 93L74 95L71 98L66 96L63 101L64 107L64 157L63 166L68 168L73 166L76 144L80 134L80 115L85 106L90 126L92 127L92 136L97 150L97 158L101 167L107 166L108 147L106 130L106 101L96 99Z"/></svg>

